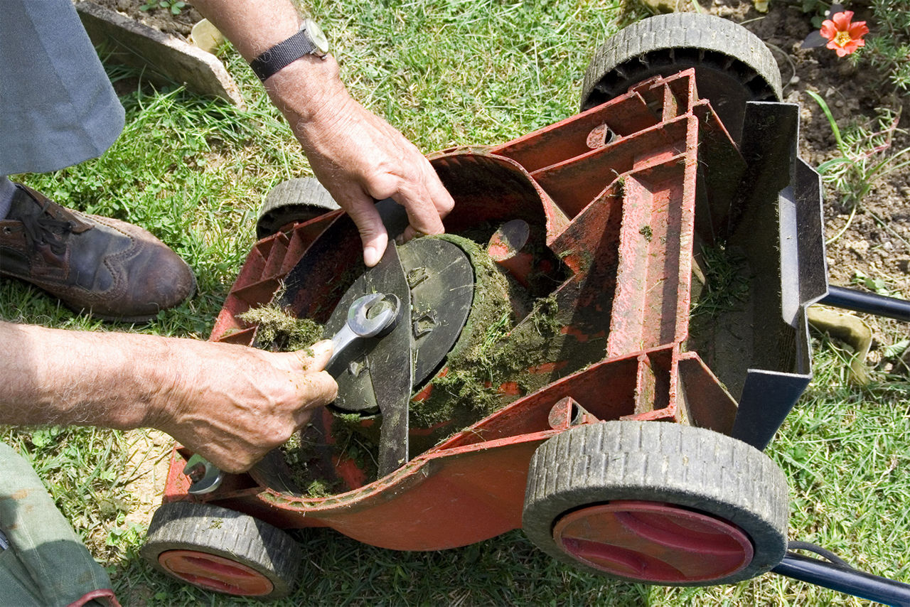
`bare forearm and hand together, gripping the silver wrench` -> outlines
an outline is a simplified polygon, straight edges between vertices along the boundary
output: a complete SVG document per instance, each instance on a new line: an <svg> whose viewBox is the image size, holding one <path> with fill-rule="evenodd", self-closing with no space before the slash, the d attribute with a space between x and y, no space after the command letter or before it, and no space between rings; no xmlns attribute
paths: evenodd
<svg viewBox="0 0 910 607"><path fill-rule="evenodd" d="M228 472L248 470L335 400L311 351L0 321L0 423L151 427Z"/></svg>

